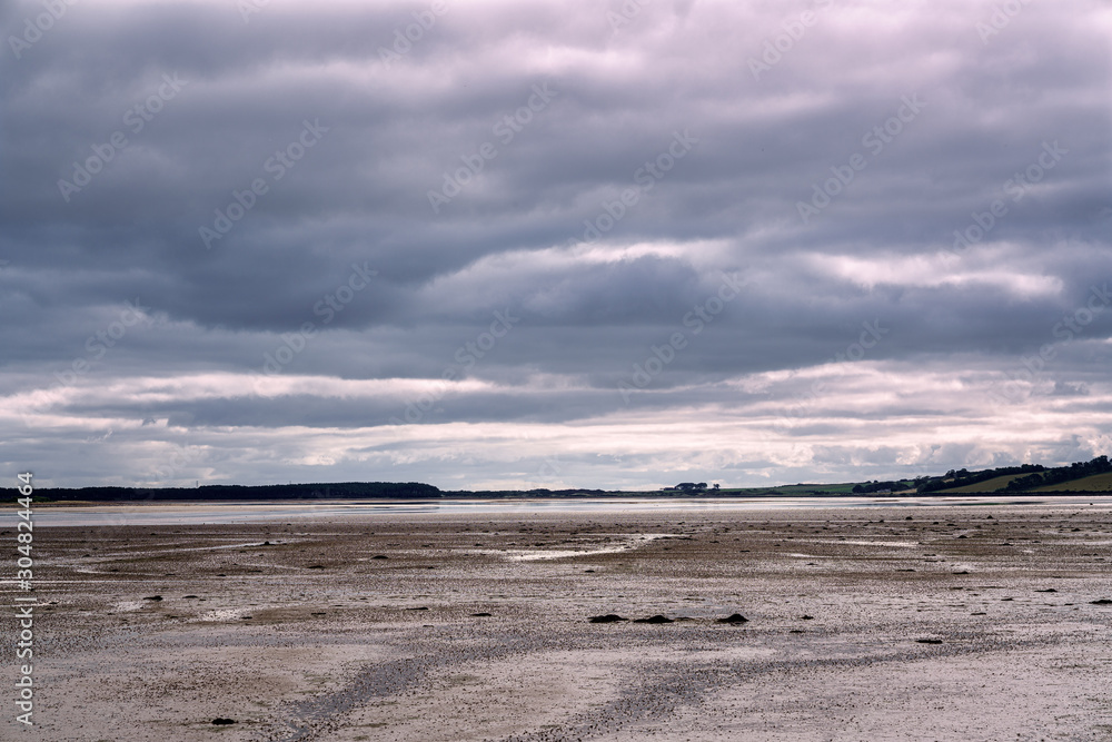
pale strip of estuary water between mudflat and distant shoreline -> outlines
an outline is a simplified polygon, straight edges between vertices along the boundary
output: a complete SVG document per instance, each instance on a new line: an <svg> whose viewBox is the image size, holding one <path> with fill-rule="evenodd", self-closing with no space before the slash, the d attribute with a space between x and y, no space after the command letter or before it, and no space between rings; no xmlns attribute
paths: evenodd
<svg viewBox="0 0 1112 742"><path fill-rule="evenodd" d="M1112 507L1112 496L1088 495L982 495L962 497L662 497L583 498L583 499L431 499L431 501L312 501L244 503L146 503L137 505L96 505L79 507L36 507L34 525L122 526L122 525L200 525L265 523L270 521L358 520L381 516L405 520L427 515L514 515L545 516L572 513L598 515L622 513L675 512L711 513L758 509L937 507L943 505L1053 505ZM33 506L32 506L33 507ZM0 511L0 524L14 522L12 509Z"/></svg>

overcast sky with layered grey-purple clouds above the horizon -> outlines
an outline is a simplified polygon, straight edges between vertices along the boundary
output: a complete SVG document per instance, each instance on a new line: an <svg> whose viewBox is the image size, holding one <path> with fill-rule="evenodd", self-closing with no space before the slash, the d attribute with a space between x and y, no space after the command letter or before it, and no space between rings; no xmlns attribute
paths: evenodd
<svg viewBox="0 0 1112 742"><path fill-rule="evenodd" d="M40 486L856 482L1112 453L1112 4L0 9Z"/></svg>

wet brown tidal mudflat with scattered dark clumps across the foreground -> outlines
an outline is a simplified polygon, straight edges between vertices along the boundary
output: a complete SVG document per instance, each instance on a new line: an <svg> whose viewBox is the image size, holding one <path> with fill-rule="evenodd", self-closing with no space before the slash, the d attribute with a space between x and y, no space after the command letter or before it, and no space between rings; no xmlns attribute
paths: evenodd
<svg viewBox="0 0 1112 742"><path fill-rule="evenodd" d="M3 736L1112 739L1110 546L1108 504L37 528Z"/></svg>

